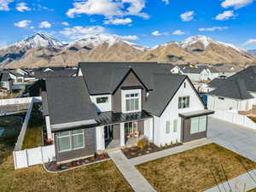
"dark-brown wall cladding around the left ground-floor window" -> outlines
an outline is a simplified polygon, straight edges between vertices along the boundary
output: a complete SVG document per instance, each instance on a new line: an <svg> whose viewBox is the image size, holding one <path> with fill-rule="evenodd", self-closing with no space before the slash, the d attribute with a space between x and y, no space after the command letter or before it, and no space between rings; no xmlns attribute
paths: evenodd
<svg viewBox="0 0 256 192"><path fill-rule="evenodd" d="M85 156L90 156L96 152L96 127L84 129L84 148L59 152L58 139L55 134L55 154L58 162L73 160Z"/></svg>

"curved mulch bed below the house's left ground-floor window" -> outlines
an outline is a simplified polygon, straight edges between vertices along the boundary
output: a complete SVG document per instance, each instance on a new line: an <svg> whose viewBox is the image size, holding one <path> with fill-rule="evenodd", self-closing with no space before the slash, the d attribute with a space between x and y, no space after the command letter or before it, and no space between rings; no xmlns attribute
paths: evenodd
<svg viewBox="0 0 256 192"><path fill-rule="evenodd" d="M92 157L88 157L83 160L74 160L72 162L63 163L63 164L57 164L56 161L52 161L50 163L45 163L45 168L49 172L60 172L60 171L72 169L75 167L84 166L86 164L96 163L102 160L108 160L108 159L109 159L108 154L96 154Z"/></svg>

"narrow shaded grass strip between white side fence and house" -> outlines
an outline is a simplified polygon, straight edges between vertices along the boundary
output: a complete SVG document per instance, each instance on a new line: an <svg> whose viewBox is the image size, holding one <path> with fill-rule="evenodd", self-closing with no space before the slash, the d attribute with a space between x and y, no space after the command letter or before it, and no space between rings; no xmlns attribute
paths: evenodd
<svg viewBox="0 0 256 192"><path fill-rule="evenodd" d="M44 125L43 116L38 111L38 105L32 108L32 114L26 128L26 135L22 144L22 149L37 148L42 146L42 126Z"/></svg>

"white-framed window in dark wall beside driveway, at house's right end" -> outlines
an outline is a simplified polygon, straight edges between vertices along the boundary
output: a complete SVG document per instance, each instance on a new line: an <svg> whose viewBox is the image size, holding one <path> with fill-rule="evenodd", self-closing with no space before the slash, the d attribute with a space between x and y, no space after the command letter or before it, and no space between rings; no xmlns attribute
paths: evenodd
<svg viewBox="0 0 256 192"><path fill-rule="evenodd" d="M191 118L190 133L195 134L204 131L207 131L207 116Z"/></svg>

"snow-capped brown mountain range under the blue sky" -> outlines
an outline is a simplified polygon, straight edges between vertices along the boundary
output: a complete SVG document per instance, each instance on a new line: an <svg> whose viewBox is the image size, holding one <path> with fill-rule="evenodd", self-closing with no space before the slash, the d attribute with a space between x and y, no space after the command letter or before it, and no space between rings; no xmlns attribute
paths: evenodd
<svg viewBox="0 0 256 192"><path fill-rule="evenodd" d="M256 62L256 55L206 36L193 36L183 42L172 41L148 48L122 40L116 35L86 35L82 39L66 43L38 32L18 43L0 48L0 67L75 66L79 61L246 65Z"/></svg>

